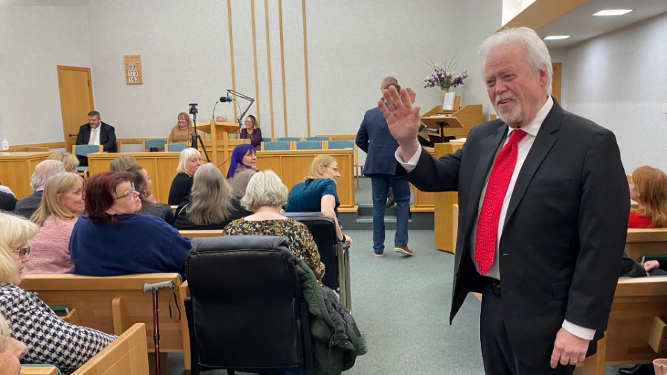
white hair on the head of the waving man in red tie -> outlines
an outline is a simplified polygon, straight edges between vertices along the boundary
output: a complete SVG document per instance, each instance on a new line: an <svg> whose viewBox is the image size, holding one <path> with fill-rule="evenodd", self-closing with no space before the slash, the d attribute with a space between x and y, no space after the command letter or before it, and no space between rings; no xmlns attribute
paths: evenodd
<svg viewBox="0 0 667 375"><path fill-rule="evenodd" d="M536 71L543 70L547 72L547 84L544 86L544 90L547 92L547 95L551 95L551 82L554 73L551 65L551 56L549 55L547 45L544 44L540 35L537 35L532 28L505 28L486 38L481 43L481 46L479 46L482 76L485 75L484 67L486 66L488 54L500 44L509 42L521 42L525 47L525 56L528 64Z"/></svg>

